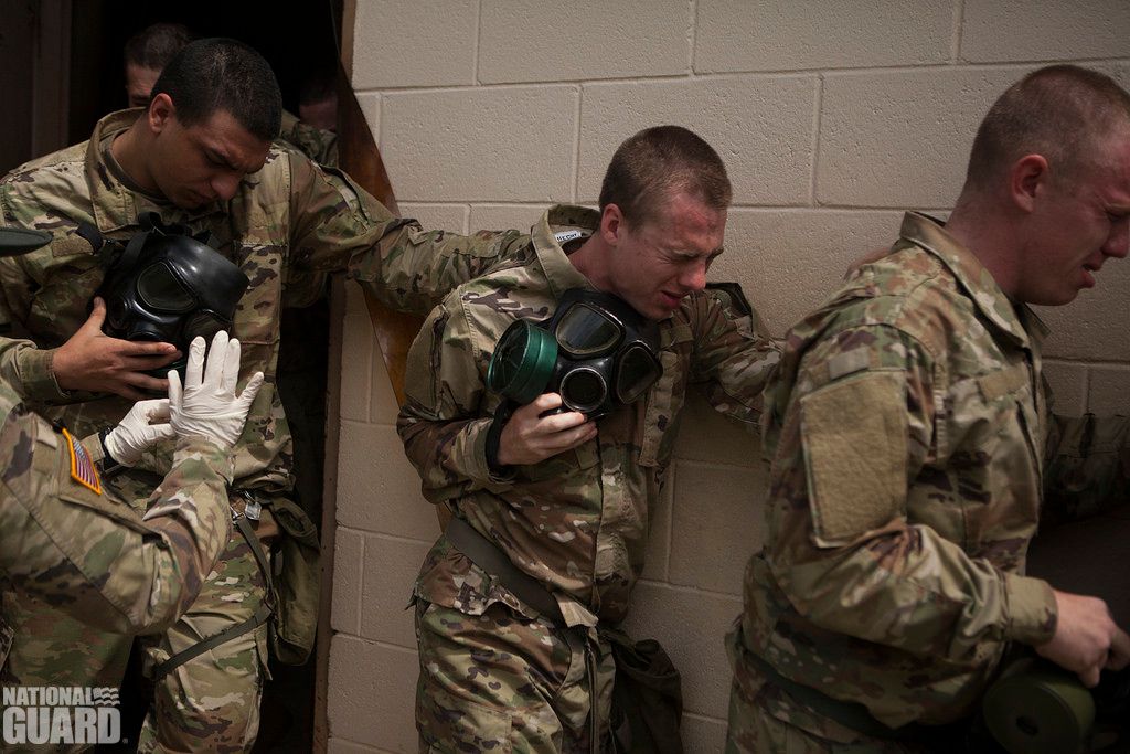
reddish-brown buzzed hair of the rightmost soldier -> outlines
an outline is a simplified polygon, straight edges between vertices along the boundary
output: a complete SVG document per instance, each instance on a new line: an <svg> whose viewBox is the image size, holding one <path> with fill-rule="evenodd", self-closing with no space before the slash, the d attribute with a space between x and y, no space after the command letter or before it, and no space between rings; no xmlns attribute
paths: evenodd
<svg viewBox="0 0 1130 754"><path fill-rule="evenodd" d="M966 183L989 189L1025 155L1048 159L1053 179L1072 183L1101 159L1102 140L1130 125L1130 94L1078 66L1049 66L1000 95L977 129Z"/></svg>

